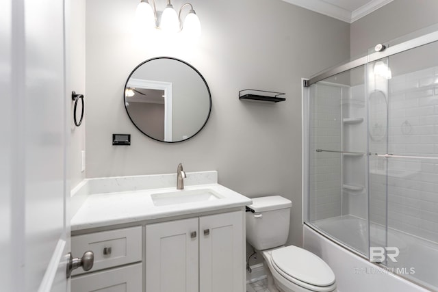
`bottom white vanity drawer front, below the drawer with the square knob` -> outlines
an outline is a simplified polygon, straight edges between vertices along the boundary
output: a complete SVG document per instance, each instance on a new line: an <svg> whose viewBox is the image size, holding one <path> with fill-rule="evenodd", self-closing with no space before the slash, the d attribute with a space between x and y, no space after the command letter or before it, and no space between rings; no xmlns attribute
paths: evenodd
<svg viewBox="0 0 438 292"><path fill-rule="evenodd" d="M140 292L143 290L142 264L96 271L71 280L71 292Z"/></svg>

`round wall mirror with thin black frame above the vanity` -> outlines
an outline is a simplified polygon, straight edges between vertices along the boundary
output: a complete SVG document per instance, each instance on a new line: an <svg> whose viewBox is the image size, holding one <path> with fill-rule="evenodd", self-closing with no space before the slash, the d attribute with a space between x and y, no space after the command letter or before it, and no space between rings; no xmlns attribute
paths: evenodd
<svg viewBox="0 0 438 292"><path fill-rule="evenodd" d="M211 94L204 77L172 57L155 57L134 68L123 96L137 129L161 142L190 139L210 116Z"/></svg>

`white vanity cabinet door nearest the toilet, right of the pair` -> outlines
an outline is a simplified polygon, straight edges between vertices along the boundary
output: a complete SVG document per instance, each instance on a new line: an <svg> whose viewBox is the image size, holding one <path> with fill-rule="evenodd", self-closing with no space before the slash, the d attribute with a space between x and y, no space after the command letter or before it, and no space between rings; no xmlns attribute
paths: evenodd
<svg viewBox="0 0 438 292"><path fill-rule="evenodd" d="M245 291L243 212L200 217L199 233L200 290Z"/></svg>

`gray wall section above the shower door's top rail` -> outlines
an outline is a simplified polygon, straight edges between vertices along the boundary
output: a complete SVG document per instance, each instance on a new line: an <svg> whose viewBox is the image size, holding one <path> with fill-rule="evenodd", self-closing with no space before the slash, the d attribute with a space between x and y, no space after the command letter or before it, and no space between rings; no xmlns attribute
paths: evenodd
<svg viewBox="0 0 438 292"><path fill-rule="evenodd" d="M351 24L351 56L438 23L437 0L394 0Z"/></svg>

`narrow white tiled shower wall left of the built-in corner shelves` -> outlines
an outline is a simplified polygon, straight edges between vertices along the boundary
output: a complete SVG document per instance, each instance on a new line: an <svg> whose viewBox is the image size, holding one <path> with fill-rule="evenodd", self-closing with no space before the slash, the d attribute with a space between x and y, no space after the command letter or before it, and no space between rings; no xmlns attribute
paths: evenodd
<svg viewBox="0 0 438 292"><path fill-rule="evenodd" d="M310 92L309 219L342 215L342 88L318 83Z"/></svg>

